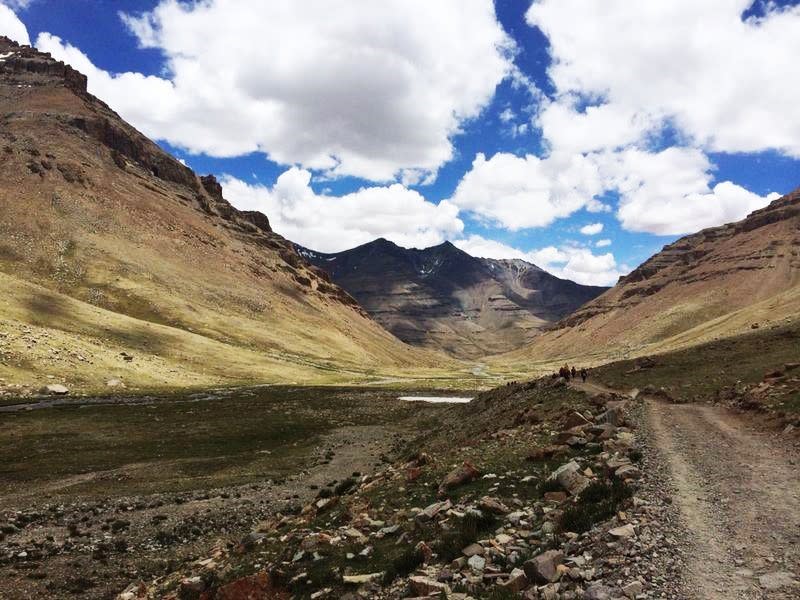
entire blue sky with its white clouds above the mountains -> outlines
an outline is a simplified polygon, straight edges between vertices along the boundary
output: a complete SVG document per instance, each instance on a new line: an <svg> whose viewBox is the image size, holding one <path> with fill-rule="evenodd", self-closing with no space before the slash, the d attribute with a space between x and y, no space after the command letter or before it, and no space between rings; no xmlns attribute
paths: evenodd
<svg viewBox="0 0 800 600"><path fill-rule="evenodd" d="M451 239L611 284L800 186L797 2L0 4L0 33L323 251Z"/></svg>

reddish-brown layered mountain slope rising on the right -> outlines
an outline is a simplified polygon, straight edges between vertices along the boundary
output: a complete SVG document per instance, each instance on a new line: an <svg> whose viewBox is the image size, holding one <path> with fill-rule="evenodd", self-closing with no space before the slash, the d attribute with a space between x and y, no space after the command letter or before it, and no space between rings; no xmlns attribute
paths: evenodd
<svg viewBox="0 0 800 600"><path fill-rule="evenodd" d="M800 189L688 235L507 360L640 355L800 316Z"/></svg>

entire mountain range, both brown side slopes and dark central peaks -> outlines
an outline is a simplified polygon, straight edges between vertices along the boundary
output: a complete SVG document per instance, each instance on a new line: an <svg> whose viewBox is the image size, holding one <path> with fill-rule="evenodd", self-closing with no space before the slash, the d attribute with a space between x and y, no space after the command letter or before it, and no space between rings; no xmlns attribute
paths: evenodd
<svg viewBox="0 0 800 600"><path fill-rule="evenodd" d="M141 387L530 373L800 314L800 190L611 289L446 242L295 246L46 53L0 38L0 383Z"/></svg>

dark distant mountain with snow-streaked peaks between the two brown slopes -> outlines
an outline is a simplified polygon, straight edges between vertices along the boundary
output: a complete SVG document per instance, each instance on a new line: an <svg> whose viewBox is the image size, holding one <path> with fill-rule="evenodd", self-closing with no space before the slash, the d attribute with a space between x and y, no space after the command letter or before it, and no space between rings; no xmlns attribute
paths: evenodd
<svg viewBox="0 0 800 600"><path fill-rule="evenodd" d="M401 340L464 358L518 348L605 289L524 261L475 258L450 242L418 250L378 239L336 254L298 251Z"/></svg>

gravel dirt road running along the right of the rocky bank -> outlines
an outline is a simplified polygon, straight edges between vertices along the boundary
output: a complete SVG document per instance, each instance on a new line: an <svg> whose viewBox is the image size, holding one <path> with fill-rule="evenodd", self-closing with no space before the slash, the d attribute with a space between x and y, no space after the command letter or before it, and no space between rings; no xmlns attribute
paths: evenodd
<svg viewBox="0 0 800 600"><path fill-rule="evenodd" d="M687 589L697 600L800 598L800 457L726 408L643 402L683 521Z"/></svg>

